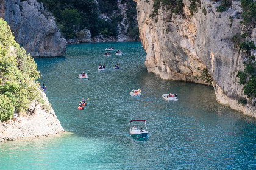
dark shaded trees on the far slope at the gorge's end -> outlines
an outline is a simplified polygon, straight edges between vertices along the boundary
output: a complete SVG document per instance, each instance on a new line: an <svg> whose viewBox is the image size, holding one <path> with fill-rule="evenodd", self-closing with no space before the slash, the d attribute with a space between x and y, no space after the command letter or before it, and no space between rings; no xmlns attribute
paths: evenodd
<svg viewBox="0 0 256 170"><path fill-rule="evenodd" d="M117 36L118 24L123 20L121 9L117 6L117 0L38 0L43 2L56 18L60 31L65 38L76 38L80 30L89 29L91 36L99 34L103 36ZM126 3L128 30L137 26L136 3L132 0L122 0ZM129 34L133 36L133 34ZM138 37L139 32L135 35ZM131 37L131 38L135 38Z"/></svg>

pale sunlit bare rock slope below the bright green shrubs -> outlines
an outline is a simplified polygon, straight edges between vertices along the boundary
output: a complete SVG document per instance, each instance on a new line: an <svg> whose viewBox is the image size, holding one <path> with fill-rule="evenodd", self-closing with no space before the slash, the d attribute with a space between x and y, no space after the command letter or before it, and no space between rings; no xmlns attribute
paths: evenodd
<svg viewBox="0 0 256 170"><path fill-rule="evenodd" d="M59 134L64 132L54 110L49 105L48 98L44 93L45 104L32 102L29 107L30 115L14 118L4 123L0 122L0 141L17 140L24 137L38 137Z"/></svg>

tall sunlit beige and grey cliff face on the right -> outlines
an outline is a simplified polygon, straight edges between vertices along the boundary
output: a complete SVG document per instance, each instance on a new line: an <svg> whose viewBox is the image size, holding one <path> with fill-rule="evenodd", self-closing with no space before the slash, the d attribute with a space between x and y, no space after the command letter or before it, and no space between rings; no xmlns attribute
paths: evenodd
<svg viewBox="0 0 256 170"><path fill-rule="evenodd" d="M234 1L225 12L217 12L219 4L202 0L198 12L191 15L190 1L183 0L183 15L159 9L154 18L149 17L154 10L152 0L135 2L148 72L165 80L212 85L219 103L256 118L254 106L237 104L238 98L246 97L236 80L238 70L244 69L245 56L237 52L232 42L232 37L243 29L240 2ZM210 72L212 84L200 78L204 68Z"/></svg>

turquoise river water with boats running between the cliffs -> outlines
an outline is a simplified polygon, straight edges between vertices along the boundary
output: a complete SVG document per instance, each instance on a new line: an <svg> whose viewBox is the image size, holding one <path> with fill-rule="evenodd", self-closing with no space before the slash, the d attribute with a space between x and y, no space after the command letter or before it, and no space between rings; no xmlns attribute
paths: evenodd
<svg viewBox="0 0 256 170"><path fill-rule="evenodd" d="M110 46L124 55L103 57ZM140 42L123 42L72 45L63 57L35 59L72 134L0 143L0 169L255 169L256 120L216 103L212 87L147 73L145 58ZM98 72L99 64L107 70ZM89 80L77 78L83 71ZM141 97L130 97L138 88ZM179 100L163 100L168 92ZM90 99L78 110L82 98ZM148 139L129 136L135 119L146 120Z"/></svg>

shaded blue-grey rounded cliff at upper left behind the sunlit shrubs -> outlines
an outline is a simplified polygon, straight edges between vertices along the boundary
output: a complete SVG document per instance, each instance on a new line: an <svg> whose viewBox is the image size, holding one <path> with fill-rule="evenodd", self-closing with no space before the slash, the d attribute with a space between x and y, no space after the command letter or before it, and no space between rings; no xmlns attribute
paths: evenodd
<svg viewBox="0 0 256 170"><path fill-rule="evenodd" d="M36 0L0 0L0 16L10 25L16 42L34 57L61 56L66 40L54 17Z"/></svg>

